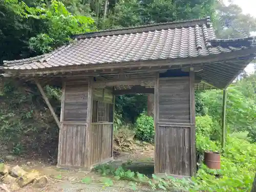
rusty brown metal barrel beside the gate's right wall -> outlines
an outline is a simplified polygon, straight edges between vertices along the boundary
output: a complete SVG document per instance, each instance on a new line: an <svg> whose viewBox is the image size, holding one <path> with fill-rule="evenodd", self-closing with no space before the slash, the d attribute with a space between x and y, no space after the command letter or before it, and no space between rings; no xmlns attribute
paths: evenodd
<svg viewBox="0 0 256 192"><path fill-rule="evenodd" d="M220 169L221 154L219 152L204 152L204 163L211 169Z"/></svg>

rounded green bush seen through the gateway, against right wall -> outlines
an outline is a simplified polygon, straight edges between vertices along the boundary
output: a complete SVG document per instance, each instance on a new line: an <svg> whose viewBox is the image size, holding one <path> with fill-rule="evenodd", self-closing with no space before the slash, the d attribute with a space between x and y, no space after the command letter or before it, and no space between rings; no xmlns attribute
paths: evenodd
<svg viewBox="0 0 256 192"><path fill-rule="evenodd" d="M154 142L154 119L142 113L136 120L135 137L146 142Z"/></svg>

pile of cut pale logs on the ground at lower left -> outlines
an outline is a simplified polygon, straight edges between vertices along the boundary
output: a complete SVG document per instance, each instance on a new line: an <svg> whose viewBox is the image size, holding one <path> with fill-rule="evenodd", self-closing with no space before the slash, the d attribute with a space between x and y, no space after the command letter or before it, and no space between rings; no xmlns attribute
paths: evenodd
<svg viewBox="0 0 256 192"><path fill-rule="evenodd" d="M20 187L24 187L28 184L31 184L32 187L35 188L41 188L46 185L47 177L40 176L37 170L26 172L22 167L19 167L18 165L11 168L8 165L1 163L0 183L6 184L4 186L8 186L11 191L18 190ZM2 186L0 187L3 189Z"/></svg>

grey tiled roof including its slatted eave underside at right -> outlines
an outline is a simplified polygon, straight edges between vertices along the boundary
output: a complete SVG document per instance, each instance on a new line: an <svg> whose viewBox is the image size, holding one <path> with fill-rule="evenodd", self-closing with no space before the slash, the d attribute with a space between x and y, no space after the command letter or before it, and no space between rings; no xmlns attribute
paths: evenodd
<svg viewBox="0 0 256 192"><path fill-rule="evenodd" d="M2 70L10 73L22 73L25 70L45 73L45 71L52 71L51 69L56 72L70 69L63 69L67 66L87 65L88 69L89 66L104 69L108 64L110 64L109 67L114 66L111 65L114 63L115 66L119 63L127 66L130 62L137 65L139 61L161 59L167 63L172 63L173 60L176 65L179 65L183 58L189 58L183 59L184 63L189 65L190 58L204 57L215 58L217 61L209 61L209 63L206 62L207 59L197 59L196 63L199 65L201 65L199 62L204 62L203 69L197 71L197 75L212 86L223 89L247 66L256 53L254 37L217 39L208 17L91 32L73 37L76 39L75 42L49 54L4 61ZM222 53L234 54L229 54L232 56L229 60ZM143 65L146 65L145 63L147 62ZM25 73L32 72L25 71Z"/></svg>

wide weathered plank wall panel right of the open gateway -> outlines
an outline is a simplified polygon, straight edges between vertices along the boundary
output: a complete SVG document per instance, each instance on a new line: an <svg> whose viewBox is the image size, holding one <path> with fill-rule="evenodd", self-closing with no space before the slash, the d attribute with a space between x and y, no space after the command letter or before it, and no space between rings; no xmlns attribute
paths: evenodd
<svg viewBox="0 0 256 192"><path fill-rule="evenodd" d="M158 78L158 77L157 77ZM195 174L194 76L158 78L155 87L155 173Z"/></svg>

